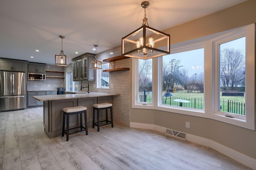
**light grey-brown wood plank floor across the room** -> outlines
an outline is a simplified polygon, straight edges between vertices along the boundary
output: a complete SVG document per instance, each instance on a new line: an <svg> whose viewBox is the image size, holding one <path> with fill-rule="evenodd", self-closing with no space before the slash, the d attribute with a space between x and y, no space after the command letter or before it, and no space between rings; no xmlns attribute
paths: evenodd
<svg viewBox="0 0 256 170"><path fill-rule="evenodd" d="M216 150L164 134L114 124L49 139L42 107L0 112L2 170L250 169Z"/></svg>

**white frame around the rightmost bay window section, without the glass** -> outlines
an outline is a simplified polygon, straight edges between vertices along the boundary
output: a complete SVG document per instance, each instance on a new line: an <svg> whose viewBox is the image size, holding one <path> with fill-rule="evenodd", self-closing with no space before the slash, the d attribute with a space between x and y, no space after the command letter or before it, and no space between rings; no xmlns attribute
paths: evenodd
<svg viewBox="0 0 256 170"><path fill-rule="evenodd" d="M224 114L226 112L219 111L219 45L228 41L232 41L241 37L246 37L246 50L245 50L245 63L246 63L246 86L245 86L245 115L234 115L232 117L226 117ZM214 87L214 94L212 100L214 100L214 107L212 108L211 118L229 123L232 125L237 125L247 129L255 130L255 24L246 25L244 27L238 28L234 31L217 37L213 39L212 50L213 54L213 69L214 80L212 86ZM250 74L249 74L250 73ZM251 81L254 80L254 81ZM248 102L253 101L253 102Z"/></svg>

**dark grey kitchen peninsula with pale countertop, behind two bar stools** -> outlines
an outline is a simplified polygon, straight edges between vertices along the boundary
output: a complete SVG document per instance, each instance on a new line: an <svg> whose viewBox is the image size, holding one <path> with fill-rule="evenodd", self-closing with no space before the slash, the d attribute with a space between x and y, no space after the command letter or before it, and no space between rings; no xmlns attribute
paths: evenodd
<svg viewBox="0 0 256 170"><path fill-rule="evenodd" d="M93 104L112 103L113 96L117 93L77 93L77 94L61 94L51 96L33 96L38 101L44 102L44 132L49 138L58 137L62 134L62 119L64 107L84 106L87 107L88 127L92 126ZM100 119L105 117L100 117ZM80 122L80 117L70 115L69 126L75 127ZM84 124L84 119L83 119ZM76 130L76 129L74 129Z"/></svg>

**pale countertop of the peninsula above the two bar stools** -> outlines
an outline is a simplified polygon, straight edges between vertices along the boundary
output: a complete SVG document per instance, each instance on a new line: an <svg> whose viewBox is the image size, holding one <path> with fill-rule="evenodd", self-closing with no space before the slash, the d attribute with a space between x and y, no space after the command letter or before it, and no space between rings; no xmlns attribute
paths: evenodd
<svg viewBox="0 0 256 170"><path fill-rule="evenodd" d="M65 100L65 99L76 99L76 98L93 98L101 96L116 96L119 93L101 93L101 92L90 92L90 93L79 93L79 94L60 94L60 95L49 95L49 96L33 96L39 101L49 100Z"/></svg>

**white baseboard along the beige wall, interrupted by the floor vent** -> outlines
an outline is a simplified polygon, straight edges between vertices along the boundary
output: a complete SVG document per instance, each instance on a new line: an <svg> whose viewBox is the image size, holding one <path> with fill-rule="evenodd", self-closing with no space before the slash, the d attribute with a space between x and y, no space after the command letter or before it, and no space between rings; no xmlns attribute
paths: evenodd
<svg viewBox="0 0 256 170"><path fill-rule="evenodd" d="M130 122L130 127L139 128L139 129L155 130L155 131L162 132L162 133L165 133L165 131L166 131L166 127L153 125L153 124L146 124L146 123ZM232 159L234 159L252 169L256 169L256 159L246 156L245 154L242 154L240 152L237 152L236 150L228 148L228 147L221 145L220 143L217 143L210 139L198 137L198 136L191 135L188 133L186 133L186 138L188 141L198 143L198 144L204 145L206 147L210 147L210 148L217 150L218 152L225 154L226 156L228 156L228 157L230 157L230 158L232 158Z"/></svg>

